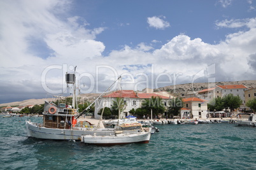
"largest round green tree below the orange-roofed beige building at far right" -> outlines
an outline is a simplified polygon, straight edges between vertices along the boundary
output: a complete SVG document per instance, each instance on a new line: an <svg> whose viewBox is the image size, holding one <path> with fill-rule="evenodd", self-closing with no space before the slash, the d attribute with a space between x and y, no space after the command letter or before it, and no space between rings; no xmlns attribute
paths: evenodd
<svg viewBox="0 0 256 170"><path fill-rule="evenodd" d="M222 97L222 101L224 104L224 108L227 110L227 108L230 108L231 111L234 111L234 109L239 108L241 104L243 104L243 101L239 96L234 96L233 94L228 94L224 97Z"/></svg>

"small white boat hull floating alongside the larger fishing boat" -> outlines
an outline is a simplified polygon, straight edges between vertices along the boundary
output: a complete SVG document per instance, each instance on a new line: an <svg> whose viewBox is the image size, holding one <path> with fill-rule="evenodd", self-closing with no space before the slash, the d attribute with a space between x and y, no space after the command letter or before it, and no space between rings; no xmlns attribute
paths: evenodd
<svg viewBox="0 0 256 170"><path fill-rule="evenodd" d="M150 136L150 132L115 134L111 136L83 135L81 141L91 145L112 146L129 143L148 143L150 141Z"/></svg>

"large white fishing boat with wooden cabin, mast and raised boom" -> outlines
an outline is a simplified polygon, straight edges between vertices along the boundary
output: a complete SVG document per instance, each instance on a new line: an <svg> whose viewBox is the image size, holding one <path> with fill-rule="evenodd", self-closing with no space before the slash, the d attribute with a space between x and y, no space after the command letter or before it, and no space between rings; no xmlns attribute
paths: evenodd
<svg viewBox="0 0 256 170"><path fill-rule="evenodd" d="M92 104L94 104L97 99L99 99L99 97L101 97L108 89L110 89L112 85L116 83L117 80L120 80L120 77L82 112L78 112L78 109L75 108L75 79L75 73L66 73L66 83L73 85L72 106L68 106L65 103L54 104L53 102L45 101L43 110L43 123L38 124L36 122L31 122L31 120L25 121L28 137L39 139L82 140L82 137L84 136L101 136L101 138L105 136L113 136L120 132L120 129L122 130L122 133L120 134L124 133L125 136L128 136L130 133L134 134L135 131L137 134L140 132L145 134L145 130L142 128L125 129L126 127L117 126L115 128L106 129L99 128L99 125L95 127L94 125L90 124L90 122L86 121L77 122L77 119L83 114L83 112L88 110L90 106L92 106ZM130 138L134 138L136 143L139 141L148 141L148 136L146 135L141 136L141 138L137 138L135 135L132 135ZM129 142L132 142L132 139L129 139ZM120 143L120 141L117 143Z"/></svg>

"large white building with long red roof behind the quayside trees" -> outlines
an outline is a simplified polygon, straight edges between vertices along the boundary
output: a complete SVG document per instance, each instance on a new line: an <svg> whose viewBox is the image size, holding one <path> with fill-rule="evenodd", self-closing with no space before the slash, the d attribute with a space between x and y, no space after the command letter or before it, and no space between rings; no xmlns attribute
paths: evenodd
<svg viewBox="0 0 256 170"><path fill-rule="evenodd" d="M155 93L138 93L134 92L134 90L117 90L111 94L101 97L101 99L96 102L94 117L100 117L97 113L99 113L101 108L111 108L111 104L113 104L113 101L115 101L117 97L124 99L124 110L122 111L120 118L127 117L129 115L129 111L132 110L132 108L134 108L134 110L141 108L141 104L145 99L150 99L151 97L160 97L165 106L168 103L168 100L170 100L169 97L161 96Z"/></svg>

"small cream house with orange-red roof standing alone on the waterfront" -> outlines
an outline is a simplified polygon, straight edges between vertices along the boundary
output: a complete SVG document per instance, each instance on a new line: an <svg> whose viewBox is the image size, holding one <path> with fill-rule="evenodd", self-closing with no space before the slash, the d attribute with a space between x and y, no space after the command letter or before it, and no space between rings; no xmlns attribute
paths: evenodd
<svg viewBox="0 0 256 170"><path fill-rule="evenodd" d="M208 114L208 107L207 107L206 100L199 99L197 97L190 97L190 98L184 98L182 99L182 101L184 102L183 110L187 110L187 114L184 114L184 115L181 114L181 117L197 118L197 119L206 118L206 115ZM183 110L181 110L181 113Z"/></svg>

